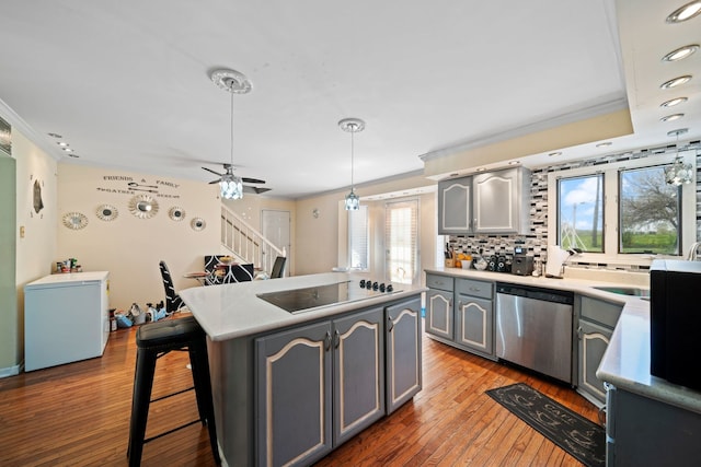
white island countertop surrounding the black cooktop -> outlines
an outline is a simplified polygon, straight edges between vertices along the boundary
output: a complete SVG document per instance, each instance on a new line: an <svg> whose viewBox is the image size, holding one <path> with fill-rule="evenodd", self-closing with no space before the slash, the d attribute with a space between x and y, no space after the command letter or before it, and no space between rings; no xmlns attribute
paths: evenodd
<svg viewBox="0 0 701 467"><path fill-rule="evenodd" d="M337 315L357 310L360 306L383 304L398 299L413 296L427 290L423 287L393 283L394 290L399 292L386 293L356 302L322 306L298 314L286 312L256 296L260 293L325 285L347 280L357 284L360 279L372 278L364 273L326 272L283 279L195 287L182 290L179 293L211 340L227 340Z"/></svg>

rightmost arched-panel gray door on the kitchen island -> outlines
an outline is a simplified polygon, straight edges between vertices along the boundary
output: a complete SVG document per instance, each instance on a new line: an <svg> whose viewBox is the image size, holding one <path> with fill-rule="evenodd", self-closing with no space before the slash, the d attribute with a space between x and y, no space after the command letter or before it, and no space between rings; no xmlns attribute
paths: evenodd
<svg viewBox="0 0 701 467"><path fill-rule="evenodd" d="M387 307L387 412L422 388L421 299Z"/></svg>

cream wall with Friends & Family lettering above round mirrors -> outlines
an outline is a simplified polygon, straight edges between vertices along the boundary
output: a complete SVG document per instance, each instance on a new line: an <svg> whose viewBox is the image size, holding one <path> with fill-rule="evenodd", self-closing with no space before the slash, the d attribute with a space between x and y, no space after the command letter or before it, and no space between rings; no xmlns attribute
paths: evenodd
<svg viewBox="0 0 701 467"><path fill-rule="evenodd" d="M217 185L66 163L59 164L58 171L58 248L53 260L76 258L83 270L110 271L111 307L128 310L134 302L143 306L164 300L160 260L168 264L180 290L198 284L183 278L184 273L202 271L204 256L220 253ZM129 183L158 186L158 192L134 190L139 187L129 187ZM129 201L140 194L151 195L159 203L150 219L139 219L129 211ZM96 210L102 205L114 206L116 219L99 219ZM184 209L184 220L169 217L173 207ZM62 215L72 211L88 217L84 229L62 224ZM203 231L191 226L196 217L206 222Z"/></svg>

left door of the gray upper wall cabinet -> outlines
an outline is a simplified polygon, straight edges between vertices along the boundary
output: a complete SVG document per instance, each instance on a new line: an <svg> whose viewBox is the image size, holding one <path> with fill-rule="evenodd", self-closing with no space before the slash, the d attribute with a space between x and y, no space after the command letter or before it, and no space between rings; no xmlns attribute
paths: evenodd
<svg viewBox="0 0 701 467"><path fill-rule="evenodd" d="M455 235L471 232L472 177L438 183L438 234Z"/></svg>

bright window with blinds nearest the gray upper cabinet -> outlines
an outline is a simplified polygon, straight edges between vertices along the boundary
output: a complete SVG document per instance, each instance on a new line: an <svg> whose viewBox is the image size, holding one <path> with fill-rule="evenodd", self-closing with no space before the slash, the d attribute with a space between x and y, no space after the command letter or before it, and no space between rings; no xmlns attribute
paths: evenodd
<svg viewBox="0 0 701 467"><path fill-rule="evenodd" d="M418 201L387 203L384 222L389 280L413 283L418 265Z"/></svg>

